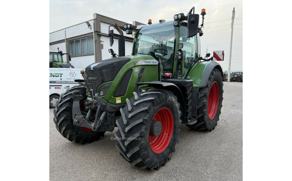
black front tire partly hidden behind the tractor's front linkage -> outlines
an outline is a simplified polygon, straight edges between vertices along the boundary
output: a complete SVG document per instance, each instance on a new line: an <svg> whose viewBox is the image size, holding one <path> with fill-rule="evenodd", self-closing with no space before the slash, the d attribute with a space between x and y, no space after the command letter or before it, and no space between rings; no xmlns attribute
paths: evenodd
<svg viewBox="0 0 292 181"><path fill-rule="evenodd" d="M78 91L84 99L86 96L86 88L84 84L74 86L67 89L65 93L60 95L60 100L56 102L54 109L54 123L61 135L69 141L76 143L91 143L98 140L100 136L104 136L105 132L85 131L84 128L73 125L72 106L73 106L73 91ZM83 100L80 101L80 103Z"/></svg>

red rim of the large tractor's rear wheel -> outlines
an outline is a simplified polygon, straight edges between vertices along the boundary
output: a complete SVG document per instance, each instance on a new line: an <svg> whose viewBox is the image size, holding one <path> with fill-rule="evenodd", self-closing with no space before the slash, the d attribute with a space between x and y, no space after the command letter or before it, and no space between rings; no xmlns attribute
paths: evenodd
<svg viewBox="0 0 292 181"><path fill-rule="evenodd" d="M215 81L211 85L208 97L208 116L210 120L214 119L214 117L216 116L218 105L219 105L219 85Z"/></svg>

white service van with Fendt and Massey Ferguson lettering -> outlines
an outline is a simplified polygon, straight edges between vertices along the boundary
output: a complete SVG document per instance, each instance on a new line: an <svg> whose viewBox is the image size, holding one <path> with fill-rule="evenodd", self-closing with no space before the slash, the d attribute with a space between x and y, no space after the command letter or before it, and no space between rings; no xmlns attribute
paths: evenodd
<svg viewBox="0 0 292 181"><path fill-rule="evenodd" d="M82 79L82 69L50 68L50 108L55 108L56 101L68 88L80 84L75 79Z"/></svg>

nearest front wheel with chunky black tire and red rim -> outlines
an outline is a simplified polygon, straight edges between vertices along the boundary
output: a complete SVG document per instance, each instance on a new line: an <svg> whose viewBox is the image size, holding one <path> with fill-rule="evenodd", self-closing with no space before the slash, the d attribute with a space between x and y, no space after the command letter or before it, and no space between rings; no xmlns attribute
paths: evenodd
<svg viewBox="0 0 292 181"><path fill-rule="evenodd" d="M119 128L115 133L118 139L116 146L120 155L132 165L141 169L158 170L166 164L167 159L171 159L171 153L175 152L179 126L182 123L180 104L173 93L166 90L148 89L133 94L130 100L126 100L127 105L120 109L121 118L116 121ZM157 117L159 112L161 116ZM158 137L153 138L149 133L154 117L161 122L162 131Z"/></svg>

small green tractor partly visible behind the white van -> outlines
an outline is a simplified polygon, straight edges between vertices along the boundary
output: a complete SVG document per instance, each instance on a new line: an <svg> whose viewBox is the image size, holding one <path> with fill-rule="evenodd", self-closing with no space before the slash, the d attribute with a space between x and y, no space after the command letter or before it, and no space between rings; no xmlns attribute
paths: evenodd
<svg viewBox="0 0 292 181"><path fill-rule="evenodd" d="M49 55L49 67L50 68L74 68L68 62L63 62L63 55L68 53L63 53L62 51L50 51ZM69 55L69 61L71 61L71 56Z"/></svg>

